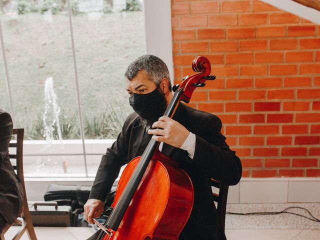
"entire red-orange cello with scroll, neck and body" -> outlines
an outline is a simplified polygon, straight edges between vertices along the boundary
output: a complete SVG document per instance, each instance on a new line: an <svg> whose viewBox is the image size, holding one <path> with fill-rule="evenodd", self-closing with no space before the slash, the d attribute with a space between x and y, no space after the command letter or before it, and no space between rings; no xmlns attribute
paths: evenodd
<svg viewBox="0 0 320 240"><path fill-rule="evenodd" d="M196 87L215 79L203 56L193 60L192 69L197 73L172 87L164 115L172 118L180 101L188 103ZM96 240L178 239L192 210L193 186L187 173L158 146L151 138L143 154L124 168L106 222L93 219L102 229Z"/></svg>

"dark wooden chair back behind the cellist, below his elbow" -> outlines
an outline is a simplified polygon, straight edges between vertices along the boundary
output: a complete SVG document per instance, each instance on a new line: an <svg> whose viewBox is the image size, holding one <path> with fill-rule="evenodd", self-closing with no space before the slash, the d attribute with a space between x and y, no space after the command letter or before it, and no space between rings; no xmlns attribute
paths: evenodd
<svg viewBox="0 0 320 240"><path fill-rule="evenodd" d="M220 182L211 178L211 186L216 187L219 189L219 193L212 192L213 201L217 203L217 211L218 216L220 218L221 226L224 231L225 226L225 208L226 208L226 199L228 196L228 185L221 184Z"/></svg>

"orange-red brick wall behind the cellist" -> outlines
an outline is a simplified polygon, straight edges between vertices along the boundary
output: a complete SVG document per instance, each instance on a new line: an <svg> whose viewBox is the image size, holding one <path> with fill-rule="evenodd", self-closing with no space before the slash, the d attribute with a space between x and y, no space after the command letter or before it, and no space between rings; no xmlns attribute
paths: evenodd
<svg viewBox="0 0 320 240"><path fill-rule="evenodd" d="M218 115L243 176L320 176L320 29L259 0L172 0L175 83L206 56L192 106Z"/></svg>

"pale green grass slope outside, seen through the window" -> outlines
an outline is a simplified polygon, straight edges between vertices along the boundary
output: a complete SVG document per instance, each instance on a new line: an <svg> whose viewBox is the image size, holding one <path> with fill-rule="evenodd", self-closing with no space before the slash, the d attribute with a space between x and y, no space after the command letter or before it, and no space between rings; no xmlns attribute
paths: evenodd
<svg viewBox="0 0 320 240"><path fill-rule="evenodd" d="M17 18L3 14L0 17L16 126L25 128L28 138L41 138L38 118L43 113L44 81L52 76L57 102L64 112L60 116L64 137L77 138L77 101L67 13L52 15L52 22L45 21L44 15L38 12ZM84 121L91 121L86 124L86 137L114 136L132 111L123 73L129 62L145 53L143 14L110 12L95 20L89 20L87 14L78 14L72 16L72 22L80 104ZM3 90L5 73L0 58L0 108L10 111L8 94ZM74 126L65 116L74 118ZM104 133L101 135L98 129Z"/></svg>

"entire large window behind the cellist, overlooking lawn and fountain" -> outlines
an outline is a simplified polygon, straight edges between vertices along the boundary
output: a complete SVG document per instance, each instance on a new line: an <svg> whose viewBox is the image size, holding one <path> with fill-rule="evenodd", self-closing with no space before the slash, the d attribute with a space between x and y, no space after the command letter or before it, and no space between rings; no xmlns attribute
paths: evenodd
<svg viewBox="0 0 320 240"><path fill-rule="evenodd" d="M1 4L0 108L25 129L25 175L94 175L131 111L123 73L145 54L141 2Z"/></svg>

